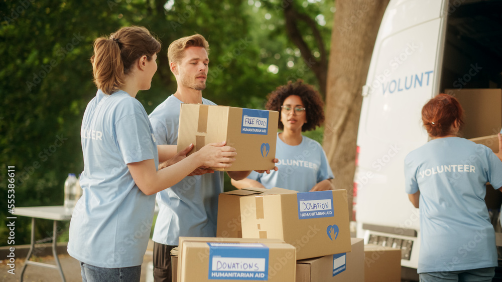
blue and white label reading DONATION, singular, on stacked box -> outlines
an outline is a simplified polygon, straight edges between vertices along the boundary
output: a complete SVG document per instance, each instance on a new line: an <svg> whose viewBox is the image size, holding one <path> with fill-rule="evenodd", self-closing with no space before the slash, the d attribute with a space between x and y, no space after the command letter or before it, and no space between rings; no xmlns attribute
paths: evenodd
<svg viewBox="0 0 502 282"><path fill-rule="evenodd" d="M303 192L296 195L299 219L334 216L331 191Z"/></svg>

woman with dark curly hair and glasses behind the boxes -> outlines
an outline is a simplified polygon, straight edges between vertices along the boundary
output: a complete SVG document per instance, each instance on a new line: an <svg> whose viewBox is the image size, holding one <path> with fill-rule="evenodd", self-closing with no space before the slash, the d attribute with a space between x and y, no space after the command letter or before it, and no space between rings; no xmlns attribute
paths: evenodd
<svg viewBox="0 0 502 282"><path fill-rule="evenodd" d="M242 180L231 180L236 188L280 187L299 192L332 190L333 173L319 142L302 135L324 122L324 103L319 93L302 80L279 86L269 94L267 110L280 112L277 134L277 171L252 172Z"/></svg>

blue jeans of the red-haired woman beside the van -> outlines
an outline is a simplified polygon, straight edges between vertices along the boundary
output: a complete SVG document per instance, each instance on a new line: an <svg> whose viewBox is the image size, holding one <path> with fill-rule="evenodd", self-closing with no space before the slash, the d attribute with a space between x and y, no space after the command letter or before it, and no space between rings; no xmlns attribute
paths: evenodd
<svg viewBox="0 0 502 282"><path fill-rule="evenodd" d="M495 275L495 267L476 268L458 271L440 271L420 273L420 282L459 281L459 282L491 282Z"/></svg>

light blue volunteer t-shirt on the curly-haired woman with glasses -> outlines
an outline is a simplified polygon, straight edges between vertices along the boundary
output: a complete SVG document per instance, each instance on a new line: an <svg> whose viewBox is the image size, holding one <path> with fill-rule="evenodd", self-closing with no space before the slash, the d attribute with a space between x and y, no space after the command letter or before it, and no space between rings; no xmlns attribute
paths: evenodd
<svg viewBox="0 0 502 282"><path fill-rule="evenodd" d="M317 183L333 178L326 153L319 142L302 136L300 145L284 143L277 135L276 166L270 174L252 171L247 178L257 180L266 188L279 187L308 192Z"/></svg>

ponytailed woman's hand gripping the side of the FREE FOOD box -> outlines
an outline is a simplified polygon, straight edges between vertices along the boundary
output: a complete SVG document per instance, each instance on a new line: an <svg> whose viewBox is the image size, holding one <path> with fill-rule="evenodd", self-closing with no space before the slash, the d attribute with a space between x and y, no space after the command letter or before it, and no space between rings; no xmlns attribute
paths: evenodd
<svg viewBox="0 0 502 282"><path fill-rule="evenodd" d="M226 142L210 143L193 153L201 166L228 168L235 161L235 148L225 146Z"/></svg>

